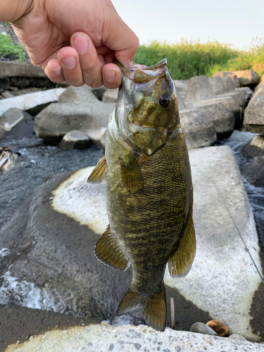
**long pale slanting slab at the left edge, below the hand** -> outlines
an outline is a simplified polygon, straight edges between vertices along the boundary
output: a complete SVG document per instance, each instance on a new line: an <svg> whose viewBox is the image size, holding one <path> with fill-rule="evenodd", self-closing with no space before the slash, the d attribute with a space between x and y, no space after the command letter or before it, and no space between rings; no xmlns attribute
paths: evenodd
<svg viewBox="0 0 264 352"><path fill-rule="evenodd" d="M34 92L0 100L0 116L3 115L9 108L29 110L30 108L36 108L37 106L51 103L51 101L58 101L58 96L60 96L64 91L65 88L47 89L42 92Z"/></svg>

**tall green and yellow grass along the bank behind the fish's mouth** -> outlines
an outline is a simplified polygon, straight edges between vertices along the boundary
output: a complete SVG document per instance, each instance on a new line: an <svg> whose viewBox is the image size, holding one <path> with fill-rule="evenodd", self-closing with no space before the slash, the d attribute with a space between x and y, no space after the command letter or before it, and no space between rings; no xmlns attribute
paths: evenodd
<svg viewBox="0 0 264 352"><path fill-rule="evenodd" d="M264 75L264 42L255 40L248 51L239 51L230 44L218 42L182 42L166 44L151 42L139 46L134 62L154 65L163 58L168 60L174 80L188 80L192 76L212 76L217 71L254 70Z"/></svg>

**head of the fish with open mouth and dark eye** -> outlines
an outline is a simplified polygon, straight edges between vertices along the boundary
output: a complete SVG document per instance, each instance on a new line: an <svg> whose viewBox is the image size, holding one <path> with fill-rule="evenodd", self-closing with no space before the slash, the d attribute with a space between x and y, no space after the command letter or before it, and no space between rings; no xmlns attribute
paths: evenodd
<svg viewBox="0 0 264 352"><path fill-rule="evenodd" d="M115 123L120 136L134 151L151 155L160 149L179 123L175 85L167 60L152 66L118 63L122 85L115 106Z"/></svg>

